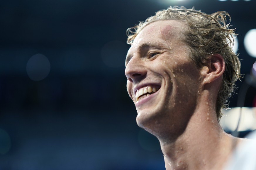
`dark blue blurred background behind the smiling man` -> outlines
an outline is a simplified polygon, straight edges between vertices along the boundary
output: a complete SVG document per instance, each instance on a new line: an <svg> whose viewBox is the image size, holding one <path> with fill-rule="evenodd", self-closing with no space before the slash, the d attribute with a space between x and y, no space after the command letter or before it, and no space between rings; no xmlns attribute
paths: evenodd
<svg viewBox="0 0 256 170"><path fill-rule="evenodd" d="M250 74L243 41L255 0L2 1L0 170L165 169L158 141L135 122L124 60L126 29L175 5L227 11ZM253 98L251 87L245 106Z"/></svg>

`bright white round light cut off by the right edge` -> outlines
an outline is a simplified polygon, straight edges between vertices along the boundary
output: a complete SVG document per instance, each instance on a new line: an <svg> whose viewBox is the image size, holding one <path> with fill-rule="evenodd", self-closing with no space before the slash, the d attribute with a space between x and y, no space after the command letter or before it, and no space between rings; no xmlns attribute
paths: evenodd
<svg viewBox="0 0 256 170"><path fill-rule="evenodd" d="M256 58L256 29L249 30L245 34L244 45L247 53Z"/></svg>

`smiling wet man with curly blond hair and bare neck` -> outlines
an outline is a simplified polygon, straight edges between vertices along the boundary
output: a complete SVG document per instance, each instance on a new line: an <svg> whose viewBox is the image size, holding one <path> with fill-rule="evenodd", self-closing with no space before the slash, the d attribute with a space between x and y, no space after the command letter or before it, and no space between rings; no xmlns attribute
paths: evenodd
<svg viewBox="0 0 256 170"><path fill-rule="evenodd" d="M127 30L127 91L166 169L222 169L243 141L219 125L240 78L226 16L169 7Z"/></svg>

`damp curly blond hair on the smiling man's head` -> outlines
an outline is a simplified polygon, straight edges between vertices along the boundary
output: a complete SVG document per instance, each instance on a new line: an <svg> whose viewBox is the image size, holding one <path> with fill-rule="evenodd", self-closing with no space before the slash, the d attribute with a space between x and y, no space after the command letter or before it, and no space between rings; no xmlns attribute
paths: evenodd
<svg viewBox="0 0 256 170"><path fill-rule="evenodd" d="M234 53L235 29L227 24L230 15L225 11L206 14L193 8L170 6L166 10L156 12L154 16L147 18L134 27L127 30L127 44L132 44L138 33L148 24L161 20L179 20L187 25L184 32L184 42L190 47L188 54L191 62L200 69L204 66L208 57L212 54L220 54L226 65L223 79L216 100L217 118L221 118L221 109L228 109L228 98L234 92L235 81L241 78L240 60Z"/></svg>

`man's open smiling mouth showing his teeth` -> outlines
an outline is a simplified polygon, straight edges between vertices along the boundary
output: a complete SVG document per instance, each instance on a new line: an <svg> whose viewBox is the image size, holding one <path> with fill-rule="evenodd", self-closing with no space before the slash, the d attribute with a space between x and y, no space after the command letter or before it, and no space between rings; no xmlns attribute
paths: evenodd
<svg viewBox="0 0 256 170"><path fill-rule="evenodd" d="M160 89L160 87L155 86L155 85L148 85L148 86L145 86L145 87L142 87L142 88L138 89L135 92L136 101L140 101L143 98L145 98L147 96L150 96L151 94L157 92L159 89Z"/></svg>

